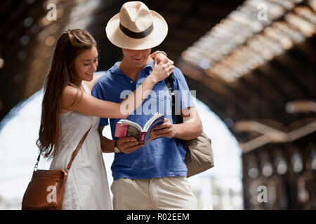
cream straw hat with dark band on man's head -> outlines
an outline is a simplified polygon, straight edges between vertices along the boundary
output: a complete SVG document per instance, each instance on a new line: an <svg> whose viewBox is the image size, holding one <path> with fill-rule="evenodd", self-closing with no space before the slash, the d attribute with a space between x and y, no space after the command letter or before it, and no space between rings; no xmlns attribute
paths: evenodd
<svg viewBox="0 0 316 224"><path fill-rule="evenodd" d="M168 25L164 18L141 1L129 1L121 6L105 28L107 38L119 48L144 50L164 41Z"/></svg>

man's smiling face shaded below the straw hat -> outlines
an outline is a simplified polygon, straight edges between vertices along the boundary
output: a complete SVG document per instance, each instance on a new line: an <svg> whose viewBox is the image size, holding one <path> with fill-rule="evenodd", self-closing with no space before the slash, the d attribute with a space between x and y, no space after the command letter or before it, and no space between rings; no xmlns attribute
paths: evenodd
<svg viewBox="0 0 316 224"><path fill-rule="evenodd" d="M124 59L133 67L143 68L148 63L151 48L145 50L129 50L121 49L123 51Z"/></svg>

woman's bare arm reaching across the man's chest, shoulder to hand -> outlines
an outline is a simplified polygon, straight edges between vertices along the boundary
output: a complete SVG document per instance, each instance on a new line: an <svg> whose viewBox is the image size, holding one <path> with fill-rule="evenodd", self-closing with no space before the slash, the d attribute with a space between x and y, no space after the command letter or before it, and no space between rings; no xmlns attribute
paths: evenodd
<svg viewBox="0 0 316 224"><path fill-rule="evenodd" d="M142 85L119 104L96 99L84 91L79 91L76 87L67 85L62 91L61 107L99 118L126 118L143 103L156 83L173 72L173 65L168 66L166 62L156 63L152 73L147 76ZM138 97L140 95L141 98Z"/></svg>

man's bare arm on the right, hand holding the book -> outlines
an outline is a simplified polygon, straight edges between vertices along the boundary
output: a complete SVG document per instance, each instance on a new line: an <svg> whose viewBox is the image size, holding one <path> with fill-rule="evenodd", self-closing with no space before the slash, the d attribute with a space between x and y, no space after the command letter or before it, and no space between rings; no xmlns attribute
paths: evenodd
<svg viewBox="0 0 316 224"><path fill-rule="evenodd" d="M169 119L164 118L164 123L154 129L154 138L167 137L171 139L175 137L177 139L191 140L199 137L203 132L203 125L195 107L181 110L181 116L183 117L183 123L175 125Z"/></svg>

